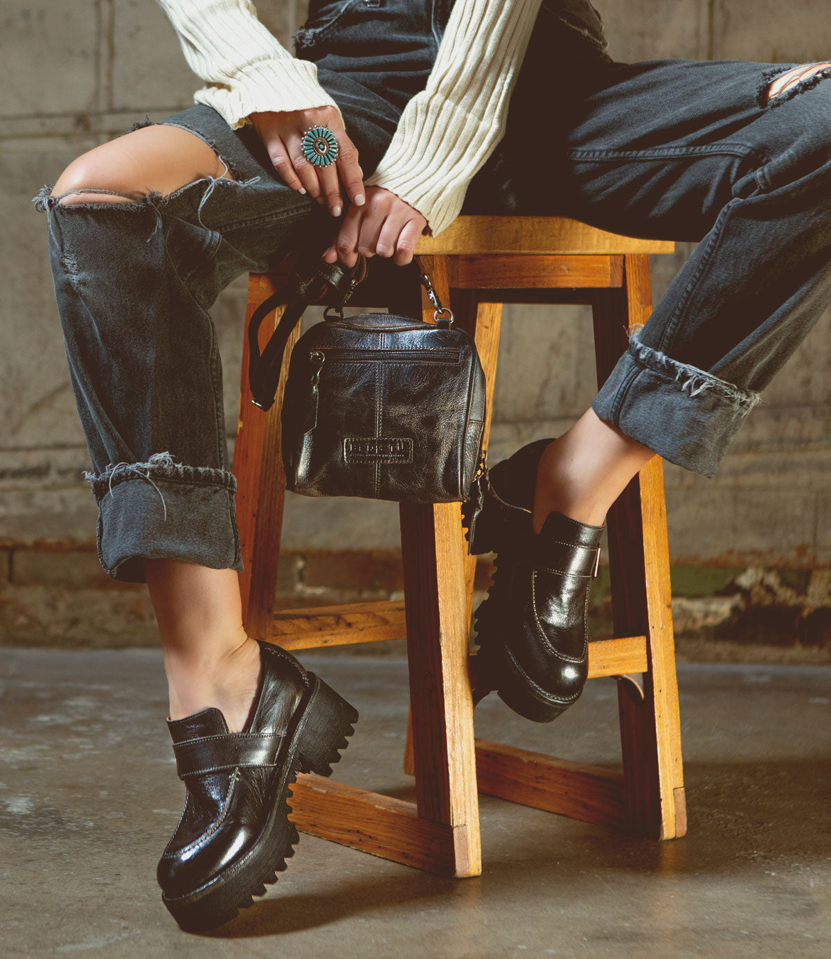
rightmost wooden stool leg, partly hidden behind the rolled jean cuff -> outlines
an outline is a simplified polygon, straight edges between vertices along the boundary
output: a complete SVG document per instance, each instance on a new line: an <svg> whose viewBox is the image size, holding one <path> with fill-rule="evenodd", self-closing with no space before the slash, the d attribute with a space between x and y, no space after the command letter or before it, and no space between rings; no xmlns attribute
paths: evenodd
<svg viewBox="0 0 831 959"><path fill-rule="evenodd" d="M645 323L652 310L648 257L627 256L625 269L623 290L599 293L595 303L600 383L626 349L627 330ZM686 831L686 813L663 469L658 456L614 504L608 528L615 633L647 637L643 697L631 684L618 684L628 825L641 835L672 839Z"/></svg>

